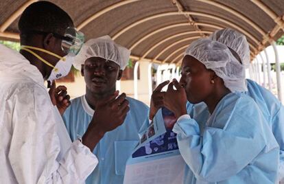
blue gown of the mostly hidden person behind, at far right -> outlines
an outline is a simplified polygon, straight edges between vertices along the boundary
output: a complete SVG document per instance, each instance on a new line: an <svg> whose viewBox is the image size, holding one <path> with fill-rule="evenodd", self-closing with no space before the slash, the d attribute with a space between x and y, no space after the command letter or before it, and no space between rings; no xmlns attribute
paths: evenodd
<svg viewBox="0 0 284 184"><path fill-rule="evenodd" d="M284 106L270 91L261 87L257 82L247 79L246 83L248 91L244 93L255 100L279 144L279 180L284 180ZM206 104L203 102L194 105L187 103L187 112L191 116L202 111L203 116L208 117L209 111L203 111L204 108Z"/></svg>

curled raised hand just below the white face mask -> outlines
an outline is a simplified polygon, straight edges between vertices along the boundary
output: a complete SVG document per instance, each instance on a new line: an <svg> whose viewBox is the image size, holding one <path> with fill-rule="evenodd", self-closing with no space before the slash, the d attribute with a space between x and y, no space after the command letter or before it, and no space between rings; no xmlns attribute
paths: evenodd
<svg viewBox="0 0 284 184"><path fill-rule="evenodd" d="M70 96L67 95L67 87L59 86L56 88L56 82L54 80L49 89L49 96L52 104L57 106L60 115L63 115L71 104Z"/></svg>

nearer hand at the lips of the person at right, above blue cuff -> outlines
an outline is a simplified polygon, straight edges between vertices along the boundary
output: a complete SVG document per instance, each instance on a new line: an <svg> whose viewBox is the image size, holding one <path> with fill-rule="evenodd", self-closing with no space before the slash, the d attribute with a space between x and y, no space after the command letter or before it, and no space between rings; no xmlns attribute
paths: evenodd
<svg viewBox="0 0 284 184"><path fill-rule="evenodd" d="M176 87L176 90L174 90L174 87ZM164 98L165 107L173 112L177 119L181 115L187 114L187 94L176 79L169 83Z"/></svg>

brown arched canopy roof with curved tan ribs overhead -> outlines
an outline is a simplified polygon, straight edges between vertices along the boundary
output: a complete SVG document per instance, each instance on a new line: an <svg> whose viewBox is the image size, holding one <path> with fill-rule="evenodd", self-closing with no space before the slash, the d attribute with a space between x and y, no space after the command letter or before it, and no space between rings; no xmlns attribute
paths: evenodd
<svg viewBox="0 0 284 184"><path fill-rule="evenodd" d="M0 2L0 38L19 41L16 24L36 0ZM247 36L252 60L284 30L281 0L51 0L71 14L87 39L110 35L140 62L180 65L185 43L231 27ZM278 82L278 84L280 84Z"/></svg>

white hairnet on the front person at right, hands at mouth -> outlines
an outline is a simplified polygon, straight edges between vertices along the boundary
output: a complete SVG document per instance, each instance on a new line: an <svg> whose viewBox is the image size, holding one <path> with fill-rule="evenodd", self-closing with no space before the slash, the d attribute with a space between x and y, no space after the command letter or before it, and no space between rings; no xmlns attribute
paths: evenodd
<svg viewBox="0 0 284 184"><path fill-rule="evenodd" d="M200 38L187 47L187 55L202 62L206 69L213 70L230 91L247 91L245 69L226 45Z"/></svg>

